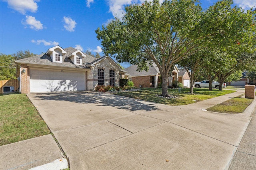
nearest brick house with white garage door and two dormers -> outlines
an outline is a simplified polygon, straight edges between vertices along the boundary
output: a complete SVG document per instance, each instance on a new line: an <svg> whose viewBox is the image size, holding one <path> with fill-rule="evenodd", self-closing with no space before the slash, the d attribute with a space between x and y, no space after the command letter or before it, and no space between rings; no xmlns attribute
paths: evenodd
<svg viewBox="0 0 256 170"><path fill-rule="evenodd" d="M59 45L45 54L15 61L20 92L94 90L97 85L119 86L125 74L109 56L96 59L78 49ZM121 70L121 71L120 71Z"/></svg>

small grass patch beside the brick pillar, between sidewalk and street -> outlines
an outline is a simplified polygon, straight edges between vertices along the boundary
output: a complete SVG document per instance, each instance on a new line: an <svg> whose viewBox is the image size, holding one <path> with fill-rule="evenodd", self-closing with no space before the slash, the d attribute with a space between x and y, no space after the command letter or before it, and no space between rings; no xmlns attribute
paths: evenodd
<svg viewBox="0 0 256 170"><path fill-rule="evenodd" d="M210 107L207 109L207 111L214 111L220 113L242 113L254 100L240 98L243 95L240 95L236 98L232 98L213 107Z"/></svg>

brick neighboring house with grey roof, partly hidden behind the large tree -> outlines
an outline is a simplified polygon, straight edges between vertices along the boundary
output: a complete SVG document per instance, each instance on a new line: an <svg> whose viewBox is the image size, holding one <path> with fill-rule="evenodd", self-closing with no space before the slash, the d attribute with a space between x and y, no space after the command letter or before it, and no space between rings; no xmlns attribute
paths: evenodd
<svg viewBox="0 0 256 170"><path fill-rule="evenodd" d="M157 88L158 82L160 82L160 71L155 63L150 66L148 63L148 71L138 70L138 65L131 65L124 69L127 71L130 76L128 76L129 80L132 80L135 87L152 87ZM178 68L175 66L172 71L172 76L169 77L168 86L172 86L172 82L174 80L178 80Z"/></svg>

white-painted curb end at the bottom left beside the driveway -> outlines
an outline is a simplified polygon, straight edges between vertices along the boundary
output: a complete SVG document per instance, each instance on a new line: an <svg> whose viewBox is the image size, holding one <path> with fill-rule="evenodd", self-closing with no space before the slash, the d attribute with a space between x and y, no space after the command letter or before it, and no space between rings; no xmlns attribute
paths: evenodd
<svg viewBox="0 0 256 170"><path fill-rule="evenodd" d="M65 158L56 159L53 162L30 168L29 170L61 170L68 168L68 160Z"/></svg>

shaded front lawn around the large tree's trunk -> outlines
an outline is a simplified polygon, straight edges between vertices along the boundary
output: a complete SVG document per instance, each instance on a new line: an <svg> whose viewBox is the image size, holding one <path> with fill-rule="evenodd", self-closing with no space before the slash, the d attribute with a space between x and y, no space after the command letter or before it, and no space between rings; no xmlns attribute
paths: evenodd
<svg viewBox="0 0 256 170"><path fill-rule="evenodd" d="M214 98L217 96L222 96L224 94L229 94L233 92L235 91L233 90L220 91L216 89L209 91L208 89L194 88L194 94L190 94L189 88L182 88L181 92L178 92L178 89L168 89L168 94L178 97L173 99L160 98L156 96L162 93L162 89L153 89L153 88L142 88L141 91L119 92L116 94L120 96L146 100L149 102L166 104L170 106L178 106L178 105L186 105L186 104L192 104L195 102L200 102L202 100Z"/></svg>

